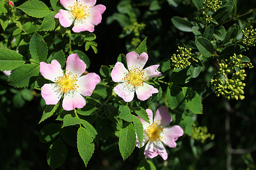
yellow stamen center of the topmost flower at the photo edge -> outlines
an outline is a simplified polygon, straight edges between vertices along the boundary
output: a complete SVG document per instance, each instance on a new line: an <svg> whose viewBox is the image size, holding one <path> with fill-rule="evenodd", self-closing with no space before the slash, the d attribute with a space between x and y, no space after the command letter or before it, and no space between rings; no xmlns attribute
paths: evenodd
<svg viewBox="0 0 256 170"><path fill-rule="evenodd" d="M90 7L88 7L81 1L77 1L76 3L74 3L73 6L69 6L69 8L71 9L73 16L77 20L90 17Z"/></svg>

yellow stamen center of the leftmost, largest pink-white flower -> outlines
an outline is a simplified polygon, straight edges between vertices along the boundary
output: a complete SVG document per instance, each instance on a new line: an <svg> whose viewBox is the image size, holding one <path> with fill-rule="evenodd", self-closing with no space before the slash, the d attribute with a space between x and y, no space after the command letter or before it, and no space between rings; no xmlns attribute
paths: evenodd
<svg viewBox="0 0 256 170"><path fill-rule="evenodd" d="M60 91L66 93L71 90L75 90L79 87L77 86L77 75L73 75L71 72L63 72L63 76L59 76L55 79L56 84L60 87Z"/></svg>

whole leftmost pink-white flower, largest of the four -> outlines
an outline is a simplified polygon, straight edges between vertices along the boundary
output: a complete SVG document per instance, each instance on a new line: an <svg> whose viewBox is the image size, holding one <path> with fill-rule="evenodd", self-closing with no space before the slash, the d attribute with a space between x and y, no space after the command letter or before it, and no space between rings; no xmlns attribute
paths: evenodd
<svg viewBox="0 0 256 170"><path fill-rule="evenodd" d="M57 104L63 97L62 107L66 111L75 108L83 108L85 99L82 96L90 96L96 84L101 79L95 73L88 73L81 76L86 69L86 64L77 54L71 54L67 58L65 71L55 59L50 64L40 62L40 73L44 78L51 80L53 83L44 84L41 88L41 95L46 104Z"/></svg>

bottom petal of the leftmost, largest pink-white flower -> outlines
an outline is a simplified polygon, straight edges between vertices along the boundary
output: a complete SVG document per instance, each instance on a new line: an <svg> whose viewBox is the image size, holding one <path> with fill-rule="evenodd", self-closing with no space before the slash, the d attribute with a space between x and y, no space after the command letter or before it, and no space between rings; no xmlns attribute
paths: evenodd
<svg viewBox="0 0 256 170"><path fill-rule="evenodd" d="M64 94L62 107L65 111L72 111L75 108L83 108L85 104L85 99L79 92L69 91Z"/></svg>

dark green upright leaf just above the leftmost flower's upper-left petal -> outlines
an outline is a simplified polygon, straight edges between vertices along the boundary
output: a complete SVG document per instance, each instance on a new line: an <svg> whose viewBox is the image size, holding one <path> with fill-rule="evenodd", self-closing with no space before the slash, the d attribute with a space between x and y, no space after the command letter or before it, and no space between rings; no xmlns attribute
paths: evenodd
<svg viewBox="0 0 256 170"><path fill-rule="evenodd" d="M35 62L46 61L48 47L43 37L37 32L34 33L30 40L30 54Z"/></svg>

